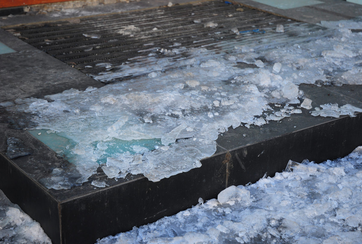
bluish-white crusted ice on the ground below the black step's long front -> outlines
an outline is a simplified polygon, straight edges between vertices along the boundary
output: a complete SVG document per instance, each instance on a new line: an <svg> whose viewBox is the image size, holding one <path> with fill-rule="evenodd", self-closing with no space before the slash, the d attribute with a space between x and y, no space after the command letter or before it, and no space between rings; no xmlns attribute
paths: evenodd
<svg viewBox="0 0 362 244"><path fill-rule="evenodd" d="M322 164L292 162L273 178L230 186L218 199L97 244L360 243L361 180L359 146Z"/></svg>

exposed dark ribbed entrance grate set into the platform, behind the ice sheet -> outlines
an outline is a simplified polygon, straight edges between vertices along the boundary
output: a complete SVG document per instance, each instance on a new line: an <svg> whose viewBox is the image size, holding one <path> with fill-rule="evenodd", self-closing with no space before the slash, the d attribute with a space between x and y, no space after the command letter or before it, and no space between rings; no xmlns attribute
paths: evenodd
<svg viewBox="0 0 362 244"><path fill-rule="evenodd" d="M205 27L208 22L217 26ZM7 30L76 69L96 75L175 43L212 49L220 41L243 38L232 28L245 31L286 23L291 21L238 4L205 1Z"/></svg>

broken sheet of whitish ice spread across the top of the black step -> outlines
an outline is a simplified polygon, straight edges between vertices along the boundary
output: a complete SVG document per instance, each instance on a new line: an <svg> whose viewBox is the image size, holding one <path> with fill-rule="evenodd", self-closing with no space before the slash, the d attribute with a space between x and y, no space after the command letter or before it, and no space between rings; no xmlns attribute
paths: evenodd
<svg viewBox="0 0 362 244"><path fill-rule="evenodd" d="M304 99L300 83L361 84L362 34L350 29L362 29L362 23L323 25L329 29L295 38L286 35L308 28L285 26L284 33L269 29L266 34L285 41L220 42L217 53L175 44L170 50L156 50L159 57L151 55L147 66L122 65L116 72L95 78L110 81L145 73L145 67L149 68L147 75L98 89L71 89L46 96L46 100L16 99L0 105L30 113L36 124L29 126L35 129L31 133L76 165L71 172L54 169L41 180L48 188L81 185L100 165L116 180L128 173L142 173L159 181L200 167L202 158L214 154L218 135L230 127L260 126L302 112L298 107ZM266 114L269 103L291 105ZM332 106L329 110L336 112L313 115L353 116L359 111L346 106L340 110ZM102 187L103 183L93 185Z"/></svg>

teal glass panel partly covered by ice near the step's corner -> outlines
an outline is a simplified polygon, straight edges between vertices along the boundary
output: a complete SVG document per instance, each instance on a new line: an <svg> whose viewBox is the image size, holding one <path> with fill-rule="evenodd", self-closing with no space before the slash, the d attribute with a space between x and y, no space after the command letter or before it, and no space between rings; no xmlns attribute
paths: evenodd
<svg viewBox="0 0 362 244"><path fill-rule="evenodd" d="M67 158L69 162L76 164L76 154L72 153L73 149L76 146L75 142L65 137L59 136L57 133L48 129L29 130L29 133L37 138L39 141L47 145L54 152ZM106 146L106 149L99 149L98 143L101 143L104 147ZM123 153L127 152L131 155L140 153L135 150L137 146L142 147L144 150L143 152L152 151L155 149L155 146L163 146L161 144L160 138L130 141L113 138L109 141L94 141L91 145L93 147L93 152L97 155L100 155L97 160L98 164L105 164L107 162L107 157L118 157L121 156Z"/></svg>

